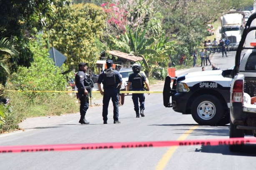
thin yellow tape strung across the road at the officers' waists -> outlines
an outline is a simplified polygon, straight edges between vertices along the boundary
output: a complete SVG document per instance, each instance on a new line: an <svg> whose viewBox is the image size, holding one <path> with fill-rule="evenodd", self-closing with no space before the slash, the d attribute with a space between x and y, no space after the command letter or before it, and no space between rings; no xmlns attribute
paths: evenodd
<svg viewBox="0 0 256 170"><path fill-rule="evenodd" d="M33 90L6 90L12 92L34 92L34 93L78 93L78 91L33 91ZM100 93L100 91L92 91L92 93ZM120 91L120 93L163 93L163 91Z"/></svg>

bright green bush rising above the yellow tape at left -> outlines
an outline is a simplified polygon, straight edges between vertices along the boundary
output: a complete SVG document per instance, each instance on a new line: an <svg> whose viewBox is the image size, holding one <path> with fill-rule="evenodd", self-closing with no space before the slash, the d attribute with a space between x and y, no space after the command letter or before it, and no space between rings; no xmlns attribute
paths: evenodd
<svg viewBox="0 0 256 170"><path fill-rule="evenodd" d="M50 59L43 38L38 36L30 41L30 50L33 52L34 62L29 68L19 67L18 72L10 77L10 86L13 86L15 90L65 90L65 85L67 85L65 76ZM36 94L30 96L31 100L36 96Z"/></svg>

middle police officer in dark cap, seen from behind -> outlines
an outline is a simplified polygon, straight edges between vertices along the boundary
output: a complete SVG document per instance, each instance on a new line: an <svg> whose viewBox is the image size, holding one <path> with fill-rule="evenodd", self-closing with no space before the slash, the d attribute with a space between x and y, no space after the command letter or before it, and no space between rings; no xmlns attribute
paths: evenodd
<svg viewBox="0 0 256 170"><path fill-rule="evenodd" d="M114 123L121 123L118 121L119 116L119 91L120 87L122 85L122 79L118 71L114 70L112 68L113 61L107 60L106 61L107 69L105 69L98 78L98 89L100 90L100 94L103 95L103 124L107 124L108 121L108 104L110 101L110 98L113 102L114 107ZM101 89L100 84L103 84L104 92Z"/></svg>

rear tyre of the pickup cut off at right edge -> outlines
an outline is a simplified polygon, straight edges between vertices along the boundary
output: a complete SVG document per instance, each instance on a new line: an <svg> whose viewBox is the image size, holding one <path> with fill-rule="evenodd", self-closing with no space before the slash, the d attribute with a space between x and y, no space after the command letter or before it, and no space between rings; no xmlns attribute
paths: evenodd
<svg viewBox="0 0 256 170"><path fill-rule="evenodd" d="M244 138L244 132L242 129L237 129L230 121L229 126L229 138ZM243 145L229 145L229 150L231 152L241 152L243 150Z"/></svg>

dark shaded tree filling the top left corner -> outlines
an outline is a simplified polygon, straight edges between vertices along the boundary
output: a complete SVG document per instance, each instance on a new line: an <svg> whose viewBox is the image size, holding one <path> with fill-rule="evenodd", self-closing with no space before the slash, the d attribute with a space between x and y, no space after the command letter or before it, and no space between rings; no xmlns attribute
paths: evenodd
<svg viewBox="0 0 256 170"><path fill-rule="evenodd" d="M37 30L41 30L54 17L53 5L61 7L68 0L1 0L0 1L0 37L8 37L20 53L9 58L10 71L18 66L29 67L33 54L28 44Z"/></svg>

